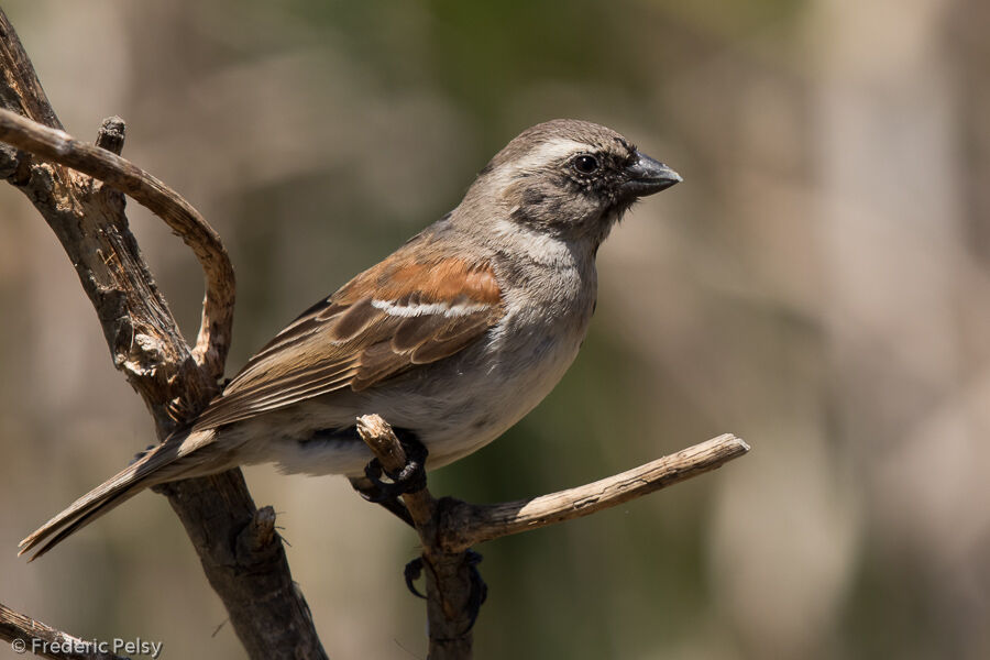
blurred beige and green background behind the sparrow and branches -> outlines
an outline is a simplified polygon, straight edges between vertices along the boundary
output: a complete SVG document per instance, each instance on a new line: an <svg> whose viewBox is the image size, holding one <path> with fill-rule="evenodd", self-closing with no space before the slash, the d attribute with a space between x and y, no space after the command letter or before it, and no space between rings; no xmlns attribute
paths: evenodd
<svg viewBox="0 0 990 660"><path fill-rule="evenodd" d="M124 155L223 237L229 374L530 124L604 123L684 176L601 251L561 385L431 485L496 502L723 432L752 452L481 547L477 658L990 657L987 2L3 4L66 129L123 117ZM199 267L129 207L191 337ZM9 186L0 215L0 602L242 657L158 496L14 559L153 432L48 228ZM413 534L342 479L248 481L330 657L424 658Z"/></svg>

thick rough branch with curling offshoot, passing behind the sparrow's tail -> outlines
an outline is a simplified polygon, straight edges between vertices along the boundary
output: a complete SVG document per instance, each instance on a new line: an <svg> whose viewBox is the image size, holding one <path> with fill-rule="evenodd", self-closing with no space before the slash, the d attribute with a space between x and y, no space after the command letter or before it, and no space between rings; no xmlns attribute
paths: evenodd
<svg viewBox="0 0 990 660"><path fill-rule="evenodd" d="M0 74L0 107L11 111L2 113L4 139L40 156L0 145L0 176L28 196L57 235L97 311L114 365L144 399L164 438L195 418L218 392L233 314L233 272L223 246L185 200L111 153L123 144L123 122L103 123L98 142L107 150L56 130L61 124L2 10ZM128 228L123 195L85 173L145 204L204 264L207 300L193 353ZM249 657L324 659L275 534L274 515L255 508L241 472L175 482L161 491L183 521Z"/></svg>

